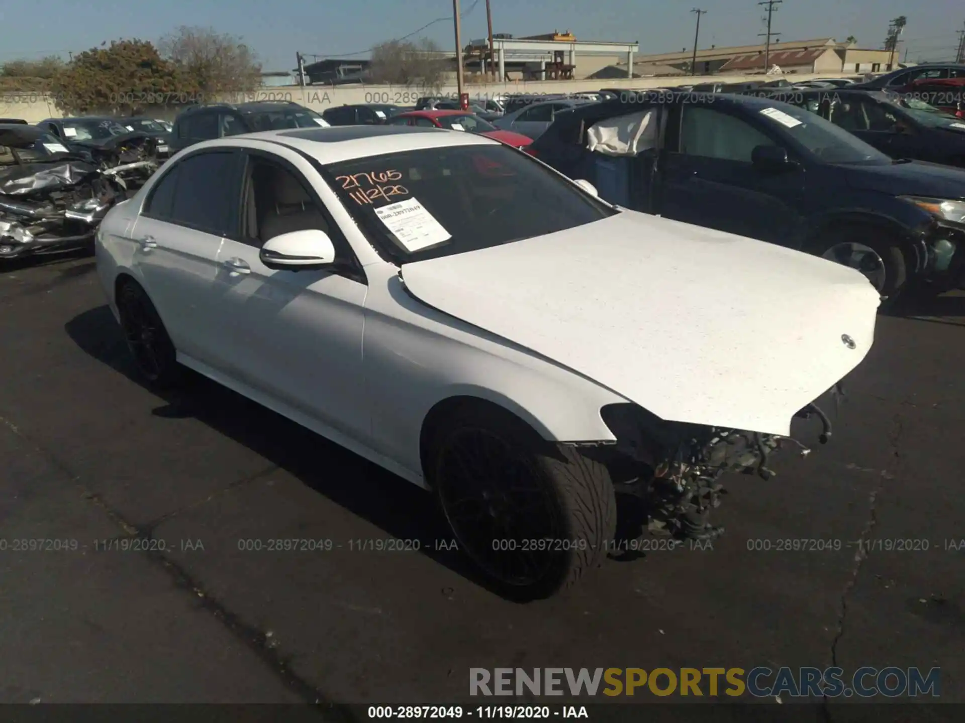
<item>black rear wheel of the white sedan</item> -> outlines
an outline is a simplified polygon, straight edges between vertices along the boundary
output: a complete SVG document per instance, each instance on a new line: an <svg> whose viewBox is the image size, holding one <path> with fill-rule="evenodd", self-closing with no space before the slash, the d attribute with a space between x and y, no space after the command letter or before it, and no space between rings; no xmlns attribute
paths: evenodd
<svg viewBox="0 0 965 723"><path fill-rule="evenodd" d="M124 281L118 289L117 307L138 372L152 387L176 386L181 378L177 351L147 292L136 281Z"/></svg>

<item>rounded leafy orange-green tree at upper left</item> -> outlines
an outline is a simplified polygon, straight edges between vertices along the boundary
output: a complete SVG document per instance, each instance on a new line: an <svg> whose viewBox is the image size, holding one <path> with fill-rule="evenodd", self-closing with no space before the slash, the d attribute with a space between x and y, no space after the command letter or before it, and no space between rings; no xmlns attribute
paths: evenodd
<svg viewBox="0 0 965 723"><path fill-rule="evenodd" d="M133 114L152 106L175 105L198 88L179 68L161 58L147 40L112 40L74 56L50 86L65 113Z"/></svg>

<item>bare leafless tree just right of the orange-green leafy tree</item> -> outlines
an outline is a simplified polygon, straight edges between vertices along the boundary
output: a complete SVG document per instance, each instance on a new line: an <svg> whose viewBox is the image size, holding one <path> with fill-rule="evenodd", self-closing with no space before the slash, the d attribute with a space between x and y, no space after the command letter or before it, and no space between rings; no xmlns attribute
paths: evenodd
<svg viewBox="0 0 965 723"><path fill-rule="evenodd" d="M262 85L258 56L236 36L182 25L158 46L207 96L248 93Z"/></svg>

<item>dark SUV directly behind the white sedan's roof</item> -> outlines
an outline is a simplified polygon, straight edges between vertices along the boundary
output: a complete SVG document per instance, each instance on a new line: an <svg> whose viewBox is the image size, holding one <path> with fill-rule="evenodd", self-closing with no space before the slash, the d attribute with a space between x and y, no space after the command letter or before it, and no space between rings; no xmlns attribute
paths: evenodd
<svg viewBox="0 0 965 723"><path fill-rule="evenodd" d="M283 128L313 128L328 122L292 100L216 103L185 108L171 130L171 152L215 138Z"/></svg>

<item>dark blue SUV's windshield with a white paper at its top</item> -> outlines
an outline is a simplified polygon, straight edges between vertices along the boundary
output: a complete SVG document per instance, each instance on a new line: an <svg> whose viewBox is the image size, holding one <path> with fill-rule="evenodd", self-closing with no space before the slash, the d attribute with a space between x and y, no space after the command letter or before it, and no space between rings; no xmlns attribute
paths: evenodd
<svg viewBox="0 0 965 723"><path fill-rule="evenodd" d="M824 163L884 166L892 159L829 120L786 103L755 109L775 130Z"/></svg>

